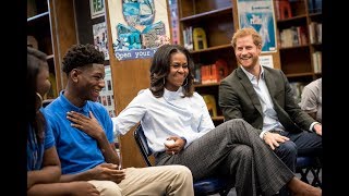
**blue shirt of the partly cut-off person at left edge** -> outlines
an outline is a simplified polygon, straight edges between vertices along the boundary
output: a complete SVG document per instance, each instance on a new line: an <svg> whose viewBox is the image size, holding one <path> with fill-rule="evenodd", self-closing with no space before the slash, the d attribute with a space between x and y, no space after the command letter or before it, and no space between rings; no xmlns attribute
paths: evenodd
<svg viewBox="0 0 349 196"><path fill-rule="evenodd" d="M40 109L43 112L43 108ZM39 170L43 167L44 151L55 146L55 137L51 127L46 124L44 133L44 142L37 140L34 127L27 124L27 140L26 140L26 170Z"/></svg>

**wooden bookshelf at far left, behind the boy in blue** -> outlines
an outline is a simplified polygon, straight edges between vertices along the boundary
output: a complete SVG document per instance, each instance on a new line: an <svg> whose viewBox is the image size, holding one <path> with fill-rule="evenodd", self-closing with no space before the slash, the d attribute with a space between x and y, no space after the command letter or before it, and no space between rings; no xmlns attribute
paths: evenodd
<svg viewBox="0 0 349 196"><path fill-rule="evenodd" d="M56 98L65 86L67 78L60 64L68 48L77 42L73 3L68 0L27 0L27 45L48 54L51 89L45 99Z"/></svg>

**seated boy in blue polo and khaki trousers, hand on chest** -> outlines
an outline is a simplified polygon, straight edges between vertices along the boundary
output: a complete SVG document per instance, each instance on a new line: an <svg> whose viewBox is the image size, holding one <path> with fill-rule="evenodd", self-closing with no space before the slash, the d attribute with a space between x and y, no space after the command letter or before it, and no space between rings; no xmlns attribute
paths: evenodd
<svg viewBox="0 0 349 196"><path fill-rule="evenodd" d="M44 109L61 161L60 182L87 181L100 195L194 195L186 167L119 167L111 119L96 102L105 87L104 60L93 45L71 47L62 62L67 87Z"/></svg>

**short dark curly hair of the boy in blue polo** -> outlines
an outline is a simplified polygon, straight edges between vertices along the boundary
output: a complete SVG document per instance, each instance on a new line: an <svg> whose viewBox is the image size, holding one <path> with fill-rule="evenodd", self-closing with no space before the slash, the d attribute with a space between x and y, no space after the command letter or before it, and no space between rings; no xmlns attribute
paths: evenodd
<svg viewBox="0 0 349 196"><path fill-rule="evenodd" d="M73 69L92 63L104 64L105 54L91 44L73 45L63 57L62 71L68 75Z"/></svg>

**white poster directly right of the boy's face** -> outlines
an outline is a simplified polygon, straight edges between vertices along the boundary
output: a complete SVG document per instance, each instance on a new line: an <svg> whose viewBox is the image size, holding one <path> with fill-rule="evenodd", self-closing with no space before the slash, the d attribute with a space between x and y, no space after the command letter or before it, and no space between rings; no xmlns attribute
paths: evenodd
<svg viewBox="0 0 349 196"><path fill-rule="evenodd" d="M105 87L99 93L98 102L108 110L109 115L116 117L116 108L113 103L113 90L110 65L105 65Z"/></svg>

